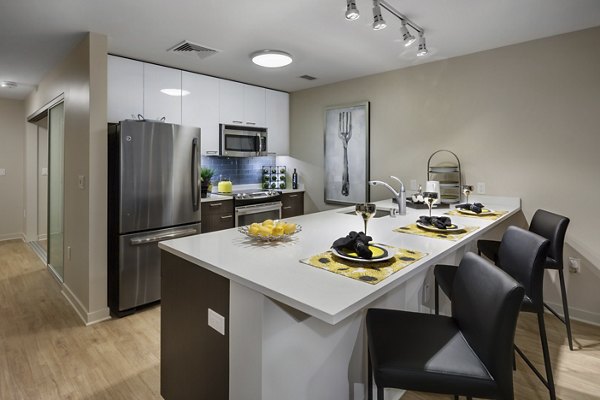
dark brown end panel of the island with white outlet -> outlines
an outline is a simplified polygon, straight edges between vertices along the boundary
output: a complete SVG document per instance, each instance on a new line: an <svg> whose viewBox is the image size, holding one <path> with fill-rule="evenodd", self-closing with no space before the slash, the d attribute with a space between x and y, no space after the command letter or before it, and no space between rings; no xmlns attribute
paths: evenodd
<svg viewBox="0 0 600 400"><path fill-rule="evenodd" d="M160 393L165 400L229 399L229 280L161 252ZM225 335L208 326L208 309Z"/></svg>

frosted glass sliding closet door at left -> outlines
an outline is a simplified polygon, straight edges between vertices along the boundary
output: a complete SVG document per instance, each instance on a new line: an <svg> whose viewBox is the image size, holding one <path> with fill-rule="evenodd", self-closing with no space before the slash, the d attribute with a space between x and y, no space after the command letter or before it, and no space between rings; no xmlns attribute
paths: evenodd
<svg viewBox="0 0 600 400"><path fill-rule="evenodd" d="M48 112L48 266L64 279L64 103Z"/></svg>

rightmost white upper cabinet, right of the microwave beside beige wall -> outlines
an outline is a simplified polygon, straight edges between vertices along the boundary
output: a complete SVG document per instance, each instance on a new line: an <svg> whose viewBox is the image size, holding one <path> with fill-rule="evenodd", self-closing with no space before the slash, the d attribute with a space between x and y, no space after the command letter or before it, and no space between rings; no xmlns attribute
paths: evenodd
<svg viewBox="0 0 600 400"><path fill-rule="evenodd" d="M280 156L290 154L290 95L266 90L267 150Z"/></svg>

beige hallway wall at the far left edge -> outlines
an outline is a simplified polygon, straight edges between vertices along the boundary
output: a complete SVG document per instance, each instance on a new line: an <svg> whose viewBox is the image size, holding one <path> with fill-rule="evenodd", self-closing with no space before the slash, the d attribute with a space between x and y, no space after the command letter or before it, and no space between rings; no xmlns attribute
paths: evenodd
<svg viewBox="0 0 600 400"><path fill-rule="evenodd" d="M25 152L25 105L0 99L0 240L22 237L23 157Z"/></svg>

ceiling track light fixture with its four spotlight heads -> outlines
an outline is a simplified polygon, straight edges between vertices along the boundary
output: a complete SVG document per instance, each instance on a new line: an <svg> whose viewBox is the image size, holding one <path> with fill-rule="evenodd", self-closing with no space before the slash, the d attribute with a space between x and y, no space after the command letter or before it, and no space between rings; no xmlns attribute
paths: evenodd
<svg viewBox="0 0 600 400"><path fill-rule="evenodd" d="M417 49L417 56L422 57L428 53L427 46L425 44L425 29L412 22L404 14L400 13L394 7L392 7L387 0L373 0L373 30L380 30L387 27L383 15L381 14L381 8L385 8L390 14L400 20L402 24L400 26L400 34L402 34L402 40L404 46L408 47L416 41L415 35L413 35L408 27L412 28L419 34L419 48ZM356 0L346 0L346 19L353 21L358 19L359 13L356 8Z"/></svg>

